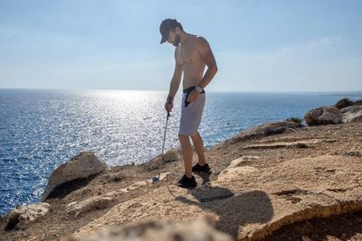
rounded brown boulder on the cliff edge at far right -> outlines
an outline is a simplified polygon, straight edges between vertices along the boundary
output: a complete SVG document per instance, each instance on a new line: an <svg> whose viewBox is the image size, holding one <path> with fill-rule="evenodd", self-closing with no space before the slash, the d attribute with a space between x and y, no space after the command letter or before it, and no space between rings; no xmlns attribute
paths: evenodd
<svg viewBox="0 0 362 241"><path fill-rule="evenodd" d="M304 115L307 125L340 124L342 114L336 107L319 107L311 109Z"/></svg>

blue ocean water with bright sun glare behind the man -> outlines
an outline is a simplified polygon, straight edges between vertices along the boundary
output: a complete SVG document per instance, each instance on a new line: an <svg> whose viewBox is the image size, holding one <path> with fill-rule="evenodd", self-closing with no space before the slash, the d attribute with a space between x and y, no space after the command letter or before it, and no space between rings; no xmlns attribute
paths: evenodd
<svg viewBox="0 0 362 241"><path fill-rule="evenodd" d="M52 171L81 151L109 166L161 153L167 92L0 89L0 215L39 201ZM340 97L318 93L206 93L200 126L206 148L254 125L302 118ZM181 96L167 128L178 146Z"/></svg>

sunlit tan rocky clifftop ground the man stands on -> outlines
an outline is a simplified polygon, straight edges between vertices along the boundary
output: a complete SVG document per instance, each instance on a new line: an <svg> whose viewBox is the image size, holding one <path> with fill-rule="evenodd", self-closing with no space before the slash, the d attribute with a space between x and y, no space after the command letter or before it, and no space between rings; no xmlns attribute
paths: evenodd
<svg viewBox="0 0 362 241"><path fill-rule="evenodd" d="M31 226L5 231L8 218L1 218L0 240L89 236L149 218L187 222L205 214L236 240L362 240L362 123L270 127L206 152L213 173L196 175L195 190L174 185L183 163L173 151L162 181L149 182L157 158L65 183Z"/></svg>

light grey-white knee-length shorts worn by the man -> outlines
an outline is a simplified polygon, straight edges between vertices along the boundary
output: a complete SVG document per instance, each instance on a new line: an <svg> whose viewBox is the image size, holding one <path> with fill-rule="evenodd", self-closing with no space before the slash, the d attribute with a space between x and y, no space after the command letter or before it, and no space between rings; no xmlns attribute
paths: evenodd
<svg viewBox="0 0 362 241"><path fill-rule="evenodd" d="M200 94L196 101L190 102L185 107L186 94L182 96L182 107L181 107L181 118L180 118L180 129L178 134L183 135L194 135L197 133L198 127L200 126L203 111L205 107L205 93Z"/></svg>

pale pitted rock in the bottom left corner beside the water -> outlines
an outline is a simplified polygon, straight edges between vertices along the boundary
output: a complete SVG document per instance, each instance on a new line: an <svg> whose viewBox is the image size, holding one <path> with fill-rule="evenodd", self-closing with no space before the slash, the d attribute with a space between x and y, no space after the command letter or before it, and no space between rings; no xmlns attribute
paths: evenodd
<svg viewBox="0 0 362 241"><path fill-rule="evenodd" d="M9 214L5 230L12 230L14 227L26 229L40 218L43 218L51 208L46 202L38 202L27 206L19 206L12 210Z"/></svg>

